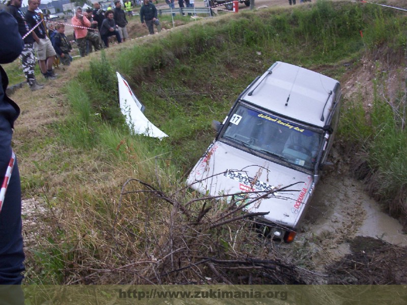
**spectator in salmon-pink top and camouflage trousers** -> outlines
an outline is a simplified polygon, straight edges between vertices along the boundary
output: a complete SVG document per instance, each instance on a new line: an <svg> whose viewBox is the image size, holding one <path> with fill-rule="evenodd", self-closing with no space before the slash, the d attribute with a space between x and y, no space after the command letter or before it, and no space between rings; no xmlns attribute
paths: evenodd
<svg viewBox="0 0 407 305"><path fill-rule="evenodd" d="M84 57L86 55L86 40L94 46L96 51L100 50L99 35L95 33L94 30L88 31L87 28L80 27L91 27L91 21L82 14L81 7L76 8L75 16L72 17L71 23L74 25L73 31L75 33L80 56Z"/></svg>

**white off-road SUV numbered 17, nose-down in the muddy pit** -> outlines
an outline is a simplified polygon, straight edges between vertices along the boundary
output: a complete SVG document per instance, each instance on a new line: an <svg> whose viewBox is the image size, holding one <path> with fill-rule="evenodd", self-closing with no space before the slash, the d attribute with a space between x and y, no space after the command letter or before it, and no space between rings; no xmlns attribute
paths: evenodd
<svg viewBox="0 0 407 305"><path fill-rule="evenodd" d="M238 97L188 176L202 194L245 205L271 237L293 241L338 124L339 82L277 62Z"/></svg>

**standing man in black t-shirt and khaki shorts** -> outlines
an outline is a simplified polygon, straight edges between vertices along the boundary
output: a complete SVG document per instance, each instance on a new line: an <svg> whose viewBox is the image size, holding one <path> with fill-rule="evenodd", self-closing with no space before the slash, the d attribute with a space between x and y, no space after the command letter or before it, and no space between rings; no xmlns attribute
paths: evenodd
<svg viewBox="0 0 407 305"><path fill-rule="evenodd" d="M54 79L56 75L52 71L52 65L56 53L47 36L46 28L44 27L40 16L35 12L37 8L38 0L28 0L28 11L25 13L25 19L31 27L35 27L38 24L33 31L33 37L35 40L34 46L37 49L40 70L45 78Z"/></svg>

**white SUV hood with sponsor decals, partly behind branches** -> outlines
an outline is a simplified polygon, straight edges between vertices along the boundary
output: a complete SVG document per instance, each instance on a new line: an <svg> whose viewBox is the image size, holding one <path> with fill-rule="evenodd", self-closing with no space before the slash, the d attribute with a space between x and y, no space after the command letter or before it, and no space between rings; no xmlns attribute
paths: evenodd
<svg viewBox="0 0 407 305"><path fill-rule="evenodd" d="M253 201L245 210L269 212L264 216L266 220L290 228L297 227L313 189L311 175L220 141L208 148L187 183L201 194L235 194L233 200L237 203ZM227 196L227 200L232 197Z"/></svg>

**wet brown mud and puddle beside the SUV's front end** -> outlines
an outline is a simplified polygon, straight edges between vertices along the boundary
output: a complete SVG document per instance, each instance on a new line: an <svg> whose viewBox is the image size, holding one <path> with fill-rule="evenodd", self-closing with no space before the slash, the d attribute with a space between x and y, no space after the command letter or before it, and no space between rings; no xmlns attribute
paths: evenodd
<svg viewBox="0 0 407 305"><path fill-rule="evenodd" d="M321 272L350 254L356 236L379 238L407 246L407 235L396 220L380 210L360 181L345 175L327 175L319 181L304 225L290 245L280 245L286 259Z"/></svg>

